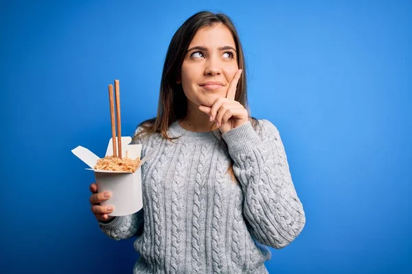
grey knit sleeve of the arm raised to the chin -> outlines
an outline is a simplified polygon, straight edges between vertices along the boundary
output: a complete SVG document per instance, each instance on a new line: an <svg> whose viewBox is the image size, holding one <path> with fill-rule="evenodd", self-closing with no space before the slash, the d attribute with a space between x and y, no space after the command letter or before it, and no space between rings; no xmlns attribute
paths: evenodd
<svg viewBox="0 0 412 274"><path fill-rule="evenodd" d="M222 134L244 193L243 214L255 240L281 249L300 234L306 218L275 125L247 123Z"/></svg>

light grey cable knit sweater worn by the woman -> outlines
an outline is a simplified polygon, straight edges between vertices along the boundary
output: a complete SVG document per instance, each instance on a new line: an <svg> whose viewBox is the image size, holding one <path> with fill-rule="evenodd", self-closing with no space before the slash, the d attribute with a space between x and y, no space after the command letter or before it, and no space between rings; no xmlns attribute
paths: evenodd
<svg viewBox="0 0 412 274"><path fill-rule="evenodd" d="M174 142L159 134L137 141L142 157L161 144L141 167L144 207L99 222L115 240L137 236L135 274L268 273L264 245L280 249L299 235L305 214L284 145L271 122L258 122L225 134L174 122Z"/></svg>

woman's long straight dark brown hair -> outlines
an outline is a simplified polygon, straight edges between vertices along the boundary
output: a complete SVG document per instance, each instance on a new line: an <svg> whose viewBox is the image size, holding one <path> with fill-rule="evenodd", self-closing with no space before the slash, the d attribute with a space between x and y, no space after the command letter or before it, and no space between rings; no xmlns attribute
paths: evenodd
<svg viewBox="0 0 412 274"><path fill-rule="evenodd" d="M163 65L163 73L161 75L159 103L157 108L157 116L142 122L139 126L141 131L135 138L146 136L148 134L160 133L163 138L171 140L167 132L172 123L185 118L187 114L187 99L183 92L181 84L176 84L181 77L181 68L186 55L187 48L192 42L192 39L198 29L202 27L210 27L216 24L225 25L231 32L233 40L235 40L236 51L238 56L238 66L242 69L242 75L238 82L235 100L241 103L249 112L247 102L247 83L246 83L246 64L242 45L236 27L229 16L218 13L203 11L198 12L188 18L170 41L168 53L166 53L165 63ZM251 118L253 126L257 124L255 119Z"/></svg>

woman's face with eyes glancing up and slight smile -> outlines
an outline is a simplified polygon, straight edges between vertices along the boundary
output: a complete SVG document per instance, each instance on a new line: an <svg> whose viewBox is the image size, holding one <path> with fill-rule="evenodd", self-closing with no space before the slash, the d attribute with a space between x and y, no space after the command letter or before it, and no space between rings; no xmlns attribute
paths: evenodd
<svg viewBox="0 0 412 274"><path fill-rule="evenodd" d="M181 84L187 103L211 107L238 71L235 40L223 24L196 32L183 60Z"/></svg>

